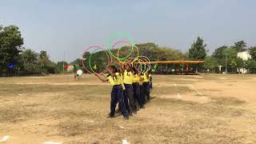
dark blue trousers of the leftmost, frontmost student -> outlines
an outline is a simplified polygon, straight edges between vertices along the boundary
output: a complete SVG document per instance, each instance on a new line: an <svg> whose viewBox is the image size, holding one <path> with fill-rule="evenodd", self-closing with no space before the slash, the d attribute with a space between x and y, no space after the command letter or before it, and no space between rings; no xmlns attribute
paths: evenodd
<svg viewBox="0 0 256 144"><path fill-rule="evenodd" d="M113 89L111 91L110 114L113 116L114 116L115 106L117 103L118 103L119 110L121 110L122 115L124 116L127 115L121 85L113 86Z"/></svg>

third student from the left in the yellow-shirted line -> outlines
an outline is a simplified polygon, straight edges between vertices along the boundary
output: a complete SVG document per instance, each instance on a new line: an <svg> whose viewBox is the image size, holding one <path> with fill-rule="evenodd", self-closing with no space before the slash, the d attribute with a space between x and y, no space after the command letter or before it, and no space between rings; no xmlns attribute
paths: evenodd
<svg viewBox="0 0 256 144"><path fill-rule="evenodd" d="M140 106L141 109L145 109L144 104L142 102L142 95L140 94L140 89L139 89L140 87L139 81L140 81L141 74L135 67L133 67L133 70L134 70L134 78L133 78L134 99L138 101L138 105Z"/></svg>

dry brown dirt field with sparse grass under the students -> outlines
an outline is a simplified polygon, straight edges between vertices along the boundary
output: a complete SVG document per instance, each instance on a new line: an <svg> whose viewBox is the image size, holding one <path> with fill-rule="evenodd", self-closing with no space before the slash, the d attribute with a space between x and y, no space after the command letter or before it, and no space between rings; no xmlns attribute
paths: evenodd
<svg viewBox="0 0 256 144"><path fill-rule="evenodd" d="M153 75L152 100L125 121L91 75L0 78L0 143L256 143L256 75ZM58 142L58 143L57 143Z"/></svg>

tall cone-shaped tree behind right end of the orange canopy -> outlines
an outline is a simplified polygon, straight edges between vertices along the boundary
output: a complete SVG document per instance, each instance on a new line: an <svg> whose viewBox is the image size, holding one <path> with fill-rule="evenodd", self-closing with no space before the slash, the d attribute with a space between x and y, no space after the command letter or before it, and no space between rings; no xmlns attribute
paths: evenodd
<svg viewBox="0 0 256 144"><path fill-rule="evenodd" d="M204 60L206 58L206 44L203 43L203 39L198 37L197 41L194 42L189 50L189 58L191 60ZM202 66L200 64L196 65L196 73Z"/></svg>

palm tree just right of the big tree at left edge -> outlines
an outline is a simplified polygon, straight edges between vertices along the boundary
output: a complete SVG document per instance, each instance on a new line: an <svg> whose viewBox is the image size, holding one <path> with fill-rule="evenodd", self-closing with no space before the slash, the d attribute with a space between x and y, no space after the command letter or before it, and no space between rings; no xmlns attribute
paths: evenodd
<svg viewBox="0 0 256 144"><path fill-rule="evenodd" d="M22 52L22 62L25 70L34 71L38 66L38 53L34 50L26 49Z"/></svg>

